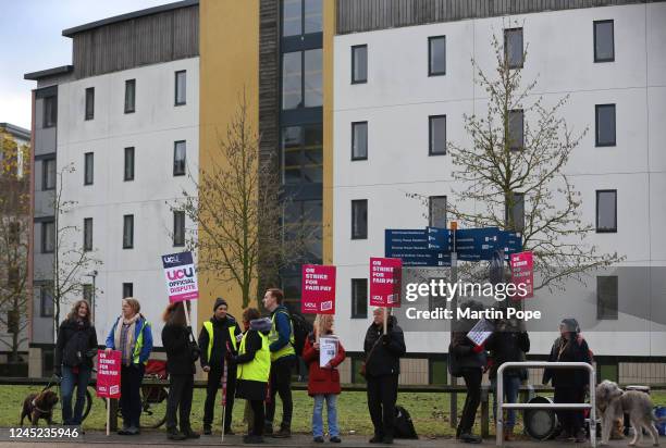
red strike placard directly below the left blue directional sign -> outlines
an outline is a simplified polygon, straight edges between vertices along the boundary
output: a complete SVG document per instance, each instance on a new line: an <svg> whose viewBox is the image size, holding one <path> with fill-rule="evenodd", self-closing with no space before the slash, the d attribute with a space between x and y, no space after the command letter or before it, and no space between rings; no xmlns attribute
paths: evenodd
<svg viewBox="0 0 666 448"><path fill-rule="evenodd" d="M403 260L399 258L371 258L370 306L399 307L402 276Z"/></svg>

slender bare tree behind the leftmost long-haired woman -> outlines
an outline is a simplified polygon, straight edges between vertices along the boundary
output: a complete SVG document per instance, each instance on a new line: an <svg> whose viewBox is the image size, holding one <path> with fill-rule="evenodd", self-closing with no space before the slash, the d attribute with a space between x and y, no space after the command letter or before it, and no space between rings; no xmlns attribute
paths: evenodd
<svg viewBox="0 0 666 448"><path fill-rule="evenodd" d="M53 262L51 273L53 278L53 326L55 335L60 327L61 307L70 300L83 298L83 277L91 270L102 264L96 258L94 250L86 250L83 244L82 228L77 225L64 225L62 220L77 206L77 201L63 196L64 179L76 169L74 164L62 167L57 173L57 188L53 197L54 237ZM95 293L94 293L95 294Z"/></svg>

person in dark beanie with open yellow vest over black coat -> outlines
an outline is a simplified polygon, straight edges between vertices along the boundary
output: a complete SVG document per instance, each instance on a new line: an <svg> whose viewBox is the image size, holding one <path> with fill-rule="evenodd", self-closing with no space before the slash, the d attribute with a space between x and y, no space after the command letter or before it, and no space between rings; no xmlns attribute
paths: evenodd
<svg viewBox="0 0 666 448"><path fill-rule="evenodd" d="M224 363L238 353L242 332L236 320L227 314L227 303L221 297L215 299L213 315L203 322L199 333L201 349L201 369L208 373L206 402L203 405L203 434L212 434L212 422L215 408L215 396L220 389ZM233 434L231 428L236 390L236 368L227 363L226 373L226 411L223 422L224 434Z"/></svg>

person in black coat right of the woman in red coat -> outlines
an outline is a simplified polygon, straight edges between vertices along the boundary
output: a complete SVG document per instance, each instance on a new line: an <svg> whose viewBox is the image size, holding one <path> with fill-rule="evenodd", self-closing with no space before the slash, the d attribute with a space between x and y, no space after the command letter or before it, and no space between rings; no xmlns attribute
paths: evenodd
<svg viewBox="0 0 666 448"><path fill-rule="evenodd" d="M393 444L400 357L407 351L403 328L394 315L388 316L384 334L386 312L385 308L374 309L373 321L363 341L368 410L374 426L371 444Z"/></svg>

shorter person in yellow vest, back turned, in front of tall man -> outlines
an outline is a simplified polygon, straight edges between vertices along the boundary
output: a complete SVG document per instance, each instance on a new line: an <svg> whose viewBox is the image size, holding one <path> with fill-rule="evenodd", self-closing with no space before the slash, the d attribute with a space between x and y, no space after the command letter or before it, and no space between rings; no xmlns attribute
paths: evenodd
<svg viewBox="0 0 666 448"><path fill-rule="evenodd" d="M263 400L271 372L271 352L269 333L271 321L259 319L259 310L248 308L243 313L243 321L249 322L249 329L243 336L238 356L232 358L237 365L236 397L248 400L254 415L251 432L243 437L245 444L263 443Z"/></svg>

